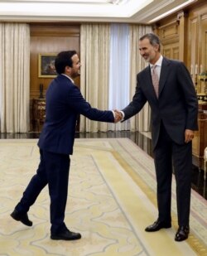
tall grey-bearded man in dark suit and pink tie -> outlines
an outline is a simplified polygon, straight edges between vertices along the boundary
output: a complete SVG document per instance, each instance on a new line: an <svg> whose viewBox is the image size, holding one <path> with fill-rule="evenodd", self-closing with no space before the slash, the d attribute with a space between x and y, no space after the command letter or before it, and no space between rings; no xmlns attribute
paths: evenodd
<svg viewBox="0 0 207 256"><path fill-rule="evenodd" d="M190 231L191 141L198 128L198 103L185 65L161 56L160 47L159 38L152 33L140 38L139 51L149 65L137 74L132 102L121 113L123 120L127 120L137 114L147 101L151 106L159 214L158 219L145 230L153 232L171 227L171 178L174 167L179 225L175 239L182 241L188 238Z"/></svg>

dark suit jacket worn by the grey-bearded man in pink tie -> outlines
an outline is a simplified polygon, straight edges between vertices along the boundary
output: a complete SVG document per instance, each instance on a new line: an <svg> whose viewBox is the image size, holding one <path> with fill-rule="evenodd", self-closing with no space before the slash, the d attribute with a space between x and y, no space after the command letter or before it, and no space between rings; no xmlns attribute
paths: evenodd
<svg viewBox="0 0 207 256"><path fill-rule="evenodd" d="M161 64L159 99L152 85L150 65L137 74L137 87L132 102L123 109L125 120L137 114L148 101L152 109L153 147L164 124L171 139L182 144L185 142L185 129L198 129L198 100L189 71L178 60L165 57Z"/></svg>

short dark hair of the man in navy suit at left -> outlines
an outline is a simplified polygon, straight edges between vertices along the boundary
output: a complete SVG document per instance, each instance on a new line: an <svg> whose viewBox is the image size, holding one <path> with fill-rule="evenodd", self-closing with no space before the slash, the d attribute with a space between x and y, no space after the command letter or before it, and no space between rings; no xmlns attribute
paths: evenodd
<svg viewBox="0 0 207 256"><path fill-rule="evenodd" d="M55 58L55 70L57 74L65 73L65 66L73 66L72 56L77 54L76 51L61 51Z"/></svg>

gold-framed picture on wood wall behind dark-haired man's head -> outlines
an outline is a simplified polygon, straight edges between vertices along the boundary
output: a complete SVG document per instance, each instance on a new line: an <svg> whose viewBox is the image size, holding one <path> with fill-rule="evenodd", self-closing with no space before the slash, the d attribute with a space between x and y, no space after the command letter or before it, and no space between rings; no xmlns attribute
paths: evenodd
<svg viewBox="0 0 207 256"><path fill-rule="evenodd" d="M57 75L55 71L55 53L44 53L38 56L38 77L52 78Z"/></svg>

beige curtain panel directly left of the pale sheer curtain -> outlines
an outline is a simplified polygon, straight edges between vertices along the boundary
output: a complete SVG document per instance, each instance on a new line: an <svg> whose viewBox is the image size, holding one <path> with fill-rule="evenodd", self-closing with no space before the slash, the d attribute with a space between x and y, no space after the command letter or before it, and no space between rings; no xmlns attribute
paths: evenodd
<svg viewBox="0 0 207 256"><path fill-rule="evenodd" d="M92 107L108 109L109 32L105 24L83 24L80 27L80 88ZM80 117L80 132L106 132L108 124Z"/></svg>

